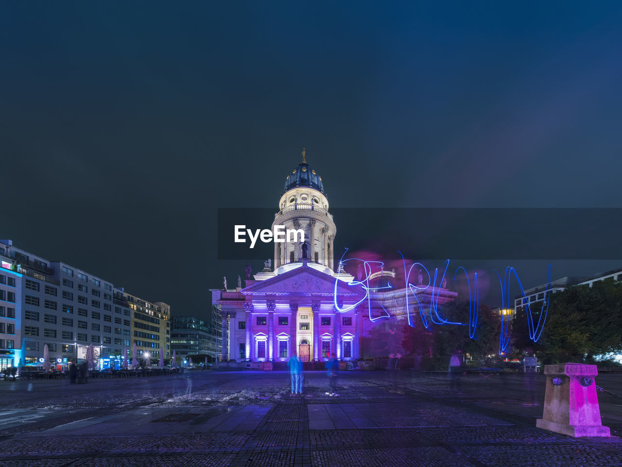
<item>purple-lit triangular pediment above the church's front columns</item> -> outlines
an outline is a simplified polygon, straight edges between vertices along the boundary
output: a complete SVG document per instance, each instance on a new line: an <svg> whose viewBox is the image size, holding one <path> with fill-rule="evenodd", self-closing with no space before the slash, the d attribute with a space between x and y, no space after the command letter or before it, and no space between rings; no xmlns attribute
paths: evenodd
<svg viewBox="0 0 622 467"><path fill-rule="evenodd" d="M360 285L349 286L346 282L336 280L333 276L317 271L306 265L287 271L275 277L263 280L241 290L243 295L325 295L335 293L337 281L337 295L352 299L364 296Z"/></svg>

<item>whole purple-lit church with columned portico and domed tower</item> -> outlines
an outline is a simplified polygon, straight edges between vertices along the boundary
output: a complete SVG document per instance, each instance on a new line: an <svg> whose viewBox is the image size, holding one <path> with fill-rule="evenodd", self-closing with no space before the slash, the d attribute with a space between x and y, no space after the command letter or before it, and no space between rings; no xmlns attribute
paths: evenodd
<svg viewBox="0 0 622 467"><path fill-rule="evenodd" d="M404 353L401 329L417 311L406 304L406 288L394 271L374 271L369 297L339 265L337 227L328 212L322 177L302 163L285 177L274 225L303 229L304 242L275 243L272 268L254 274L244 288L212 290L222 317L221 361L356 360ZM379 286L384 284L384 286ZM422 306L454 300L442 287L415 291ZM410 300L414 302L412 293ZM336 305L337 303L337 305Z"/></svg>

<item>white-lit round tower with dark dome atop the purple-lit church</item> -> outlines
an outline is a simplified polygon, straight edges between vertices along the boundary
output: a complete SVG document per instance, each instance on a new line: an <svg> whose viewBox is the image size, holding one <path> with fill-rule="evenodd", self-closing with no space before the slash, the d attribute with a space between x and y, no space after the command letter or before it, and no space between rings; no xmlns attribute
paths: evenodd
<svg viewBox="0 0 622 467"><path fill-rule="evenodd" d="M333 274L333 250L337 227L328 212L328 198L322 177L307 164L305 150L302 163L285 176L285 186L279 200L279 212L274 215L275 225L285 230L304 230L304 242L274 243L274 270L277 274L293 265L309 260L312 268Z"/></svg>

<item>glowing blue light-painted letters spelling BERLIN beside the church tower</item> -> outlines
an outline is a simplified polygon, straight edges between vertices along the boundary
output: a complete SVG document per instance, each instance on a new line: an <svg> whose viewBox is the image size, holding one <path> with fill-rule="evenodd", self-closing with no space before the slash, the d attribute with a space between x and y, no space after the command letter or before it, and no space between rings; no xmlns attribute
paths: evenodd
<svg viewBox="0 0 622 467"><path fill-rule="evenodd" d="M370 291L371 290L379 291L383 289L392 288L391 285L389 284L386 286L373 286L373 287L371 287L369 284L369 279L371 275L373 274L374 269L377 270L379 268L382 268L384 266L384 263L381 261L368 261L362 258L344 259L343 257L345 257L347 252L348 252L348 248L346 248L346 251L341 256L341 259L339 262L340 267L338 270L339 273L337 274L337 278L335 279L335 289L333 293L333 302L335 305L335 309L337 310L338 313L345 313L346 311L350 311L351 309L355 309L357 306L360 306L361 304L366 303L366 306L368 308L368 313L369 313L369 321L374 322L374 321L378 321L379 319L391 318L391 314L389 314L386 308L384 308L384 306L382 305L381 305L381 308L384 311L384 316L374 317L372 313L372 309L371 309ZM477 328L478 310L480 308L480 293L479 293L479 288L478 288L477 273L473 274L473 278L471 281L471 278L464 267L459 266L456 268L455 273L453 274L452 285L455 285L456 278L458 275L465 276L466 288L468 290L469 316L468 316L468 321L464 323L459 322L459 321L449 321L448 319L443 318L442 313L439 310L439 289L440 289L440 285L445 280L445 276L447 276L447 271L449 269L450 261L445 260L445 263L443 263L443 267L441 268L442 275L440 275L440 278L439 278L439 268L435 268L434 274L432 275L430 274L430 271L428 270L428 268L426 268L425 265L419 262L412 263L410 267L407 267L406 259L404 258L404 255L402 255L401 252L398 252L398 253L400 254L402 258L402 265L404 267L404 288L406 289L406 294L404 297L404 311L406 314L408 325L411 327L415 327L415 321L414 321L413 315L418 314L425 329L430 328L430 322L434 324L439 324L439 325L452 324L455 326L468 326L469 337L471 339L476 339L475 331ZM363 274L360 277L356 278L356 280L349 281L348 286L362 288L364 291L364 296L363 298L361 298L361 300L359 300L358 302L354 304L349 304L348 306L341 306L337 300L337 285L340 281L339 275L341 274L341 271L343 271L343 267L345 267L345 265L347 265L348 263L355 263L355 262L360 262L360 264L362 265ZM411 273L415 266L420 267L422 268L422 270L425 271L425 273L427 274L427 283L419 283L419 284L411 283L411 280L410 280ZM537 342L540 336L542 335L542 329L544 329L544 323L546 321L546 316L549 310L550 283L551 283L551 277L552 277L551 272L552 272L552 268L551 268L551 265L549 264L548 273L547 273L547 291L545 292L545 300L542 302L542 310L541 310L541 313L539 314L537 324L534 324L534 317L531 311L531 307L529 306L529 301L523 300L526 306L526 309L527 309L526 314L527 314L527 328L529 329L529 339L531 339L533 342ZM508 266L506 268L503 280L501 280L501 276L499 276L499 273L497 271L494 271L494 273L496 273L497 277L499 278L499 285L501 286L501 309L510 308L511 297L510 297L509 290L510 290L511 276L514 276L514 279L516 280L516 283L518 284L521 290L522 298L526 298L526 294L525 294L524 288L522 287L521 280L519 279L518 273L513 267ZM430 293L431 293L431 300L430 300L429 310L426 313L424 311L424 306L422 306L422 304L419 301L419 298L417 297L417 292L428 290L428 289L430 290ZM418 311L418 313L415 313L415 311ZM429 316L429 321L428 321L428 316ZM510 340L509 317L506 318L504 317L503 314L501 314L501 334L499 337L499 354L502 354L506 350L509 344L509 340Z"/></svg>

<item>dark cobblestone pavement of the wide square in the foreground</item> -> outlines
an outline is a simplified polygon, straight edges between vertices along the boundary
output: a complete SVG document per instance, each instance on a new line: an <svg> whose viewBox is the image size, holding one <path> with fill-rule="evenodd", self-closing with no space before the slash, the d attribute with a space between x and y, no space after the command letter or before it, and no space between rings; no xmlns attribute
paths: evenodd
<svg viewBox="0 0 622 467"><path fill-rule="evenodd" d="M11 466L618 466L622 439L569 438L535 428L520 375L323 372L290 394L282 372L187 372L171 377L3 382L0 467ZM622 393L622 375L597 377ZM622 410L599 394L603 424Z"/></svg>

